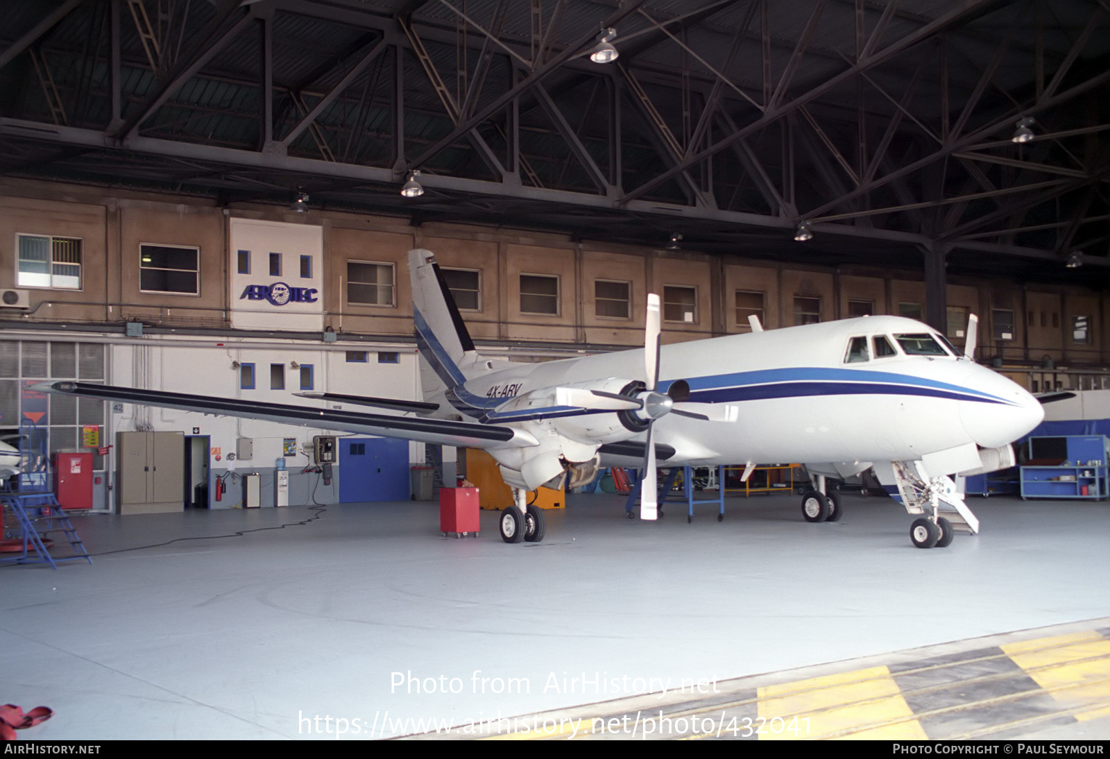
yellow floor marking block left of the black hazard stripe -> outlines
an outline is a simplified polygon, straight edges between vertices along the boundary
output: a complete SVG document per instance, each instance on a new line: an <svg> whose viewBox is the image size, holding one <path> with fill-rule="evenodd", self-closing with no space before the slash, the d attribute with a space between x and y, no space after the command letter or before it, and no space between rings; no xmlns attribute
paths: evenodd
<svg viewBox="0 0 1110 759"><path fill-rule="evenodd" d="M886 667L767 686L759 688L758 695L761 718L796 716L805 725L797 733L761 732L760 740L811 739L846 731L851 732L846 736L851 738L927 738ZM880 726L868 727L876 722Z"/></svg>

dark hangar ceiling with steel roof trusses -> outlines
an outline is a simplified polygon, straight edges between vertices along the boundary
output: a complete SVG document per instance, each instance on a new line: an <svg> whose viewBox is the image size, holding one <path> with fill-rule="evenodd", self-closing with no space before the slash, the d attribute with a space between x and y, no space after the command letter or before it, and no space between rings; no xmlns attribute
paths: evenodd
<svg viewBox="0 0 1110 759"><path fill-rule="evenodd" d="M1110 285L1107 0L7 0L4 14L7 175ZM619 58L595 63L607 28ZM414 170L425 192L403 198ZM801 222L813 240L794 240ZM1066 267L1074 253L1087 265Z"/></svg>

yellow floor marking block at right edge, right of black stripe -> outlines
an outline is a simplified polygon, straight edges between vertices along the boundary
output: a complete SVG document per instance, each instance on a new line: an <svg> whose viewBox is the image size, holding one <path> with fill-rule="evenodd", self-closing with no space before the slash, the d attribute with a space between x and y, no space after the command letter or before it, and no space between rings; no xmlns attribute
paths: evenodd
<svg viewBox="0 0 1110 759"><path fill-rule="evenodd" d="M1073 710L1076 719L1107 716L1102 705L1110 701L1110 640L1092 630L1001 648L1061 706Z"/></svg>

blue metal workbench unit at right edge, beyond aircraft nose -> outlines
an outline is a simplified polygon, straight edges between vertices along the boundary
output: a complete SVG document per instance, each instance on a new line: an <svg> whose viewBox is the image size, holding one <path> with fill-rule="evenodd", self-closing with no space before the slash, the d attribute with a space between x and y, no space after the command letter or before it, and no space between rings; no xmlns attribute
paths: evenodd
<svg viewBox="0 0 1110 759"><path fill-rule="evenodd" d="M1030 437L1029 463L1021 467L1022 498L1106 498L1107 438L1103 435Z"/></svg>

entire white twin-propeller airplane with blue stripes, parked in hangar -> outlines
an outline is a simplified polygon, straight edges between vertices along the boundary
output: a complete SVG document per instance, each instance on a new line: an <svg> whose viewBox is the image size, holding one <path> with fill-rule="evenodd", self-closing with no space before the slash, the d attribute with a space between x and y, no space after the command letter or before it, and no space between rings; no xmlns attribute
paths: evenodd
<svg viewBox="0 0 1110 759"><path fill-rule="evenodd" d="M978 522L951 476L1013 465L1010 443L1043 418L1040 403L979 366L931 327L866 316L659 345L648 296L645 347L518 364L481 356L430 251L408 253L423 402L305 393L414 416L252 403L80 382L53 393L269 419L483 448L516 505L501 514L506 543L538 542L544 517L526 490L589 482L598 468L643 461L640 517L657 517L656 462L666 466L800 462L810 522L840 516L827 478L875 469L910 514L916 546L947 546L952 522ZM973 318L973 317L972 317ZM968 355L975 348L969 325ZM941 516L941 510L952 515Z"/></svg>

